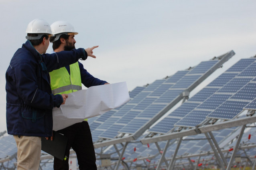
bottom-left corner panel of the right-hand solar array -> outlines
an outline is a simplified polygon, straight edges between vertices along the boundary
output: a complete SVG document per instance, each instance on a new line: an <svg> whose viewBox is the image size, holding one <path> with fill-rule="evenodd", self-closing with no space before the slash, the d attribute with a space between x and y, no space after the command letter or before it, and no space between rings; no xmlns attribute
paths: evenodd
<svg viewBox="0 0 256 170"><path fill-rule="evenodd" d="M176 122L178 122L179 120L180 119L178 119L178 118L166 117L163 120L161 120L160 122L158 122L158 124L156 124L155 126L150 128L148 130L148 132L165 134L165 133L169 132L172 128L174 128L174 124Z"/></svg>

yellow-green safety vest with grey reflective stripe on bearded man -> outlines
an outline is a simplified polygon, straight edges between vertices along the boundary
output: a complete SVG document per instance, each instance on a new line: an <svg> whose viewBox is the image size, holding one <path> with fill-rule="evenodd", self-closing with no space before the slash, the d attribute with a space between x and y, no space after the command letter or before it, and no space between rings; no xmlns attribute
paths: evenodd
<svg viewBox="0 0 256 170"><path fill-rule="evenodd" d="M65 67L53 70L49 73L53 94L69 94L82 89L78 62L69 65L69 68L70 75Z"/></svg>

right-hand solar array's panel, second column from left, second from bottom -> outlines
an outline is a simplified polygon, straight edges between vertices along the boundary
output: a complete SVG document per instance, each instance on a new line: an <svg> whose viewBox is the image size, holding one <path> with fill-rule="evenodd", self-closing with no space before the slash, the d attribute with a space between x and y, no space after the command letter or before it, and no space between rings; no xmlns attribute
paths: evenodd
<svg viewBox="0 0 256 170"><path fill-rule="evenodd" d="M201 105L197 108L199 109L216 109L219 107L223 102L228 100L232 96L231 94L213 94L210 98L205 100Z"/></svg>

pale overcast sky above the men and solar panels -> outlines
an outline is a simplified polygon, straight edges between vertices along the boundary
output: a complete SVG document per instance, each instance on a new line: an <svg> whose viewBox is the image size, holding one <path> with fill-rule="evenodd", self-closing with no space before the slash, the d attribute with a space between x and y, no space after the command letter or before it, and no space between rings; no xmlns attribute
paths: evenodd
<svg viewBox="0 0 256 170"><path fill-rule="evenodd" d="M255 8L255 0L0 0L0 132L6 130L5 72L35 18L70 22L79 33L76 48L99 45L96 59L82 61L85 69L109 83L126 81L128 90L234 50L201 88L256 54Z"/></svg>

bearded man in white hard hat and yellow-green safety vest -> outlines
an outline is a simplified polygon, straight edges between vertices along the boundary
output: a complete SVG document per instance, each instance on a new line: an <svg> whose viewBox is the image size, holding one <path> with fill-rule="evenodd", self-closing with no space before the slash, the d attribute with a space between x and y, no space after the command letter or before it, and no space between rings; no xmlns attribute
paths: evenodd
<svg viewBox="0 0 256 170"><path fill-rule="evenodd" d="M74 27L66 21L56 21L51 24L55 36L50 38L53 42L53 52L70 51L75 48ZM89 88L108 84L108 82L93 77L83 68L83 64L76 62L49 73L51 78L51 89L53 94L68 94L82 89L82 84ZM54 170L69 170L69 150L77 154L79 170L97 170L95 164L95 152L91 137L91 131L87 119L83 122L73 124L67 128L58 130L59 133L68 137L66 149L67 160L54 158Z"/></svg>

